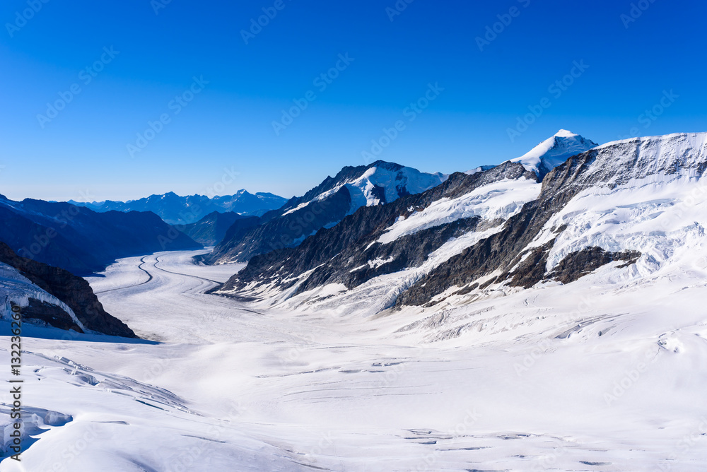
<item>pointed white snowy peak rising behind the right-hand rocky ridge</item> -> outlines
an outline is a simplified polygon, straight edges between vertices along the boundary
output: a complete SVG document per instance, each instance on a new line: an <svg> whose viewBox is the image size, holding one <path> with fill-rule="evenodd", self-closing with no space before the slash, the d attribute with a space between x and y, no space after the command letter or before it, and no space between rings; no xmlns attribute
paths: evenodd
<svg viewBox="0 0 707 472"><path fill-rule="evenodd" d="M554 136L532 148L530 152L520 158L511 159L511 162L521 163L526 170L535 172L537 177L542 180L548 172L564 163L568 158L597 146L597 143L590 139L561 129Z"/></svg>

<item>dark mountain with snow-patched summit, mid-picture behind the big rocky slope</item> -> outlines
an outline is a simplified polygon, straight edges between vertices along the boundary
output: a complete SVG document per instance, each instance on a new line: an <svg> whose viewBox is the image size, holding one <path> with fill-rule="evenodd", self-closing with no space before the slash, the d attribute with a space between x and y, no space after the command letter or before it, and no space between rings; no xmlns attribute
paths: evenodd
<svg viewBox="0 0 707 472"><path fill-rule="evenodd" d="M262 216L262 225L230 232L214 252L210 264L248 261L273 249L295 247L322 228L331 228L365 206L390 203L402 196L436 187L447 175L427 174L411 167L378 160L370 165L344 167L304 196Z"/></svg>

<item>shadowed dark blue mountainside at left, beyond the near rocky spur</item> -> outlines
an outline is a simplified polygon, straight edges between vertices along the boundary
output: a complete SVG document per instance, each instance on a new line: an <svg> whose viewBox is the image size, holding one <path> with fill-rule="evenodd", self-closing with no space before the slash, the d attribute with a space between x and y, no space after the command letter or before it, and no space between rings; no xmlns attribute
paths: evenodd
<svg viewBox="0 0 707 472"><path fill-rule="evenodd" d="M96 213L71 203L0 199L0 241L20 256L77 275L115 259L202 247L151 212Z"/></svg>

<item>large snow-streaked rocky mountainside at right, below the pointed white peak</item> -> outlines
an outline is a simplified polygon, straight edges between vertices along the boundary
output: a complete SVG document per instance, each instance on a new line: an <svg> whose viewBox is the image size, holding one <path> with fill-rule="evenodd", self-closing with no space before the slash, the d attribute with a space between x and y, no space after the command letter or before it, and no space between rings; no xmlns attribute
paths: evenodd
<svg viewBox="0 0 707 472"><path fill-rule="evenodd" d="M646 276L703 234L701 207L685 202L707 194L706 136L592 146L542 184L513 162L455 174L415 199L361 208L299 247L253 258L218 293L373 314L571 283L604 268Z"/></svg>

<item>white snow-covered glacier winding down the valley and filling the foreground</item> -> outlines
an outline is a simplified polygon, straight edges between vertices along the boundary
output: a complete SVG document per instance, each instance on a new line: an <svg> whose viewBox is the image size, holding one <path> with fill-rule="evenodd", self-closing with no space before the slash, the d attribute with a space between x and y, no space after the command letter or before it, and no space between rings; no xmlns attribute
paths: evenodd
<svg viewBox="0 0 707 472"><path fill-rule="evenodd" d="M704 268L365 318L205 295L200 253L88 279L146 341L25 325L0 471L707 470Z"/></svg>

